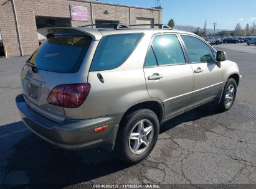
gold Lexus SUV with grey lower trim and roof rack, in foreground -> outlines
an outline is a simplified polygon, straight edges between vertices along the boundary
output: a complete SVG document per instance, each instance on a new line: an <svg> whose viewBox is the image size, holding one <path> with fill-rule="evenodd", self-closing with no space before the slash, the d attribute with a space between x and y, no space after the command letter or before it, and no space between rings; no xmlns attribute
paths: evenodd
<svg viewBox="0 0 256 189"><path fill-rule="evenodd" d="M101 146L135 164L174 116L209 102L232 107L239 67L225 52L190 32L112 25L38 30L47 41L22 69L16 104L39 137L64 149Z"/></svg>

